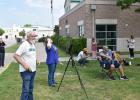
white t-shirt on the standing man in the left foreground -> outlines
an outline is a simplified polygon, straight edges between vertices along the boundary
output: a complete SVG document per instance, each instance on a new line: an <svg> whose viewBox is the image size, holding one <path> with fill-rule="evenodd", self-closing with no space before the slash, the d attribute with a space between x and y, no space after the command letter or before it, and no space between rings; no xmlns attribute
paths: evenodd
<svg viewBox="0 0 140 100"><path fill-rule="evenodd" d="M22 60L24 60L30 67L31 71L36 71L36 48L34 44L30 44L28 41L23 42L18 50L17 55L20 55ZM24 67L19 64L19 72L24 72Z"/></svg>

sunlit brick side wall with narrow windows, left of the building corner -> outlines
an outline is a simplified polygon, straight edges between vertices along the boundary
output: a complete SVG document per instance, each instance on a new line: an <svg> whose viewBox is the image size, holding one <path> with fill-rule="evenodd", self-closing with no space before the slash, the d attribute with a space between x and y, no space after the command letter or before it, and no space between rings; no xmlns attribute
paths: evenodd
<svg viewBox="0 0 140 100"><path fill-rule="evenodd" d="M67 19L68 25L70 25L70 35L79 36L77 22L83 20L85 28L84 30L86 32L85 37L90 37L89 35L92 35L92 14L89 10L89 6L84 5L80 9L66 16L65 18L60 19L59 24L62 27L60 34L65 34L65 20Z"/></svg>

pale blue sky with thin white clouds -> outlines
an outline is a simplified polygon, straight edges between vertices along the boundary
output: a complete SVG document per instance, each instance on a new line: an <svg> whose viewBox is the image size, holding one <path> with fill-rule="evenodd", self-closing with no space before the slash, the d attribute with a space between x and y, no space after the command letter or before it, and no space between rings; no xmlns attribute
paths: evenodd
<svg viewBox="0 0 140 100"><path fill-rule="evenodd" d="M15 25L59 24L59 17L64 14L65 0L53 0L53 24L51 0L0 0L0 27Z"/></svg>

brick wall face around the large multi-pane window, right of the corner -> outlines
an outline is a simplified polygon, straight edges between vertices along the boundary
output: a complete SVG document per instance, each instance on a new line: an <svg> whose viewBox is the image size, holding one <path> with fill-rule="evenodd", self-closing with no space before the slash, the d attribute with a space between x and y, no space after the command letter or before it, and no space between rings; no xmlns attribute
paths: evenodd
<svg viewBox="0 0 140 100"><path fill-rule="evenodd" d="M120 38L128 38L131 34L134 37L140 37L140 13L134 11L137 7L132 6L131 9L121 10L115 5L98 5L96 18L117 19L117 31Z"/></svg>

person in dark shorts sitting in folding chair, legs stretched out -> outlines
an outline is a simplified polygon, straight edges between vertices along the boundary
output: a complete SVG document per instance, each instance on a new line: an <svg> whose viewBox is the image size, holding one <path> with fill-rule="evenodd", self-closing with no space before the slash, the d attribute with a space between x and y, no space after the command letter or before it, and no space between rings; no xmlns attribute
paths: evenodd
<svg viewBox="0 0 140 100"><path fill-rule="evenodd" d="M104 68L109 70L108 75L110 79L115 80L114 76L112 75L115 68L118 68L121 75L121 80L128 79L124 75L124 69L122 65L113 57L113 52L109 50L107 46L103 46L103 51L99 53L98 59L100 60L100 63L104 66Z"/></svg>

